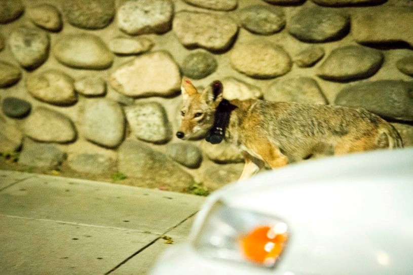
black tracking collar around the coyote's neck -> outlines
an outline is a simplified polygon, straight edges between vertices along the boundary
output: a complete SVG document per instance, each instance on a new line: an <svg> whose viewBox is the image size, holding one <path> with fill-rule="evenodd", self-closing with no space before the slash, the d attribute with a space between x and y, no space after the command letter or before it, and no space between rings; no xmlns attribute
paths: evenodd
<svg viewBox="0 0 413 275"><path fill-rule="evenodd" d="M209 130L206 141L212 144L220 143L225 137L225 130L230 123L231 111L234 110L234 105L227 99L222 99L215 110L215 121L212 128Z"/></svg>

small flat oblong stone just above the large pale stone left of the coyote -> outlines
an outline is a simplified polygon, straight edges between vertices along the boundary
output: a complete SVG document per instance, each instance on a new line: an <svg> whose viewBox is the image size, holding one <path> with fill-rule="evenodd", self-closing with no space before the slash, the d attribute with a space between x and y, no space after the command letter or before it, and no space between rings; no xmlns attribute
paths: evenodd
<svg viewBox="0 0 413 275"><path fill-rule="evenodd" d="M109 41L109 49L115 54L131 55L145 53L154 47L154 42L146 37L115 37Z"/></svg>

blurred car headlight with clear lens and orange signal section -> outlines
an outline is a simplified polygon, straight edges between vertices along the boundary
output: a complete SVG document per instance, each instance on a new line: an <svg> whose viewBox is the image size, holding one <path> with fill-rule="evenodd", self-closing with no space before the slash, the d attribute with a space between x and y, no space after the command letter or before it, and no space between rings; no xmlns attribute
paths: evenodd
<svg viewBox="0 0 413 275"><path fill-rule="evenodd" d="M202 255L273 267L286 247L287 224L278 218L217 202L193 241Z"/></svg>

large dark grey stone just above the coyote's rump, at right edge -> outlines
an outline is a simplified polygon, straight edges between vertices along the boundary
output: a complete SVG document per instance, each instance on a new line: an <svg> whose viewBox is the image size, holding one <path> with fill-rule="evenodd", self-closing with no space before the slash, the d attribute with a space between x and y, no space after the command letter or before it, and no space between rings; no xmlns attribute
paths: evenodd
<svg viewBox="0 0 413 275"><path fill-rule="evenodd" d="M334 103L397 120L413 121L413 82L366 81L344 88Z"/></svg>

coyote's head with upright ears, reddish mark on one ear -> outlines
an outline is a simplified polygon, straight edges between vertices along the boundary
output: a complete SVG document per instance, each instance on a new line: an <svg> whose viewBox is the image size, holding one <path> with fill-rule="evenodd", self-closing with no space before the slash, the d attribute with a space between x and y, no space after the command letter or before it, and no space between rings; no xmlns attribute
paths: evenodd
<svg viewBox="0 0 413 275"><path fill-rule="evenodd" d="M215 110L222 100L222 83L212 82L198 92L191 81L182 79L182 123L176 136L181 139L204 137L214 124Z"/></svg>

